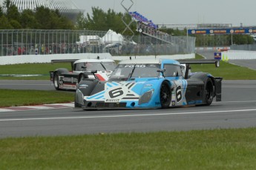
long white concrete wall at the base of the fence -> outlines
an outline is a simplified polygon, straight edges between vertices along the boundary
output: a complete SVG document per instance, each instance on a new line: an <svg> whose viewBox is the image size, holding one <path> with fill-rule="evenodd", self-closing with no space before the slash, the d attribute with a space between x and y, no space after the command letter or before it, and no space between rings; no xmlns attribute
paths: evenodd
<svg viewBox="0 0 256 170"><path fill-rule="evenodd" d="M0 65L7 64L25 64L25 63L50 63L51 60L59 59L84 59L84 58L113 58L114 60L126 60L130 56L111 56L110 53L80 53L80 54L55 54L55 55L13 55L13 56L1 56ZM148 56L137 56L136 58L171 58L171 59L187 59L194 58L195 54L186 55L148 55ZM135 58L132 56L132 58Z"/></svg>

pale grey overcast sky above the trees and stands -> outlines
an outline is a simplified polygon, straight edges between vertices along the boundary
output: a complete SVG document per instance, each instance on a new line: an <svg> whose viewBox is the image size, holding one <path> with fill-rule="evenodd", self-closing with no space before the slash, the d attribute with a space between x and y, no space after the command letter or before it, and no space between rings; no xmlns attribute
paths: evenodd
<svg viewBox="0 0 256 170"><path fill-rule="evenodd" d="M91 7L125 13L122 0L73 0L85 13ZM133 0L129 11L137 11L154 24L232 24L256 26L255 0ZM129 7L130 0L124 0Z"/></svg>

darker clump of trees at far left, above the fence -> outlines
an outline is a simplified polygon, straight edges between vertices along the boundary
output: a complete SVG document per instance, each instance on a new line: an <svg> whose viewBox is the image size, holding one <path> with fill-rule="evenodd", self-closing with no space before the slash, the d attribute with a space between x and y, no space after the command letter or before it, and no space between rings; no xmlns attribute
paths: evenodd
<svg viewBox="0 0 256 170"><path fill-rule="evenodd" d="M6 10L4 10L6 9ZM39 30L73 30L72 21L60 15L58 10L36 7L36 10L23 10L10 0L0 6L0 30L39 29Z"/></svg>

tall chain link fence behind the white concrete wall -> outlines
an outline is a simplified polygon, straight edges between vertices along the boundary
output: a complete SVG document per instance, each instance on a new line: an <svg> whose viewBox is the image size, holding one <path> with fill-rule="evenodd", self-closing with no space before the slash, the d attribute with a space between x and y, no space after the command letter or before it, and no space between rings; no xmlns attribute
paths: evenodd
<svg viewBox="0 0 256 170"><path fill-rule="evenodd" d="M171 44L146 35L128 37L91 30L0 30L0 56L102 53L173 55L194 53L195 38L168 36Z"/></svg>

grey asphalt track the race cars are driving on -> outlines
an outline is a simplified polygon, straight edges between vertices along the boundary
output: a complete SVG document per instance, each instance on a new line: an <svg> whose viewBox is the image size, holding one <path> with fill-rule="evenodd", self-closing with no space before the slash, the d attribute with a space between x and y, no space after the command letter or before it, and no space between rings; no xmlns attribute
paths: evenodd
<svg viewBox="0 0 256 170"><path fill-rule="evenodd" d="M170 109L0 112L0 137L186 131L256 126L256 81L223 81L221 102ZM1 89L55 90L49 81L0 81ZM65 91L63 91L65 92Z"/></svg>

